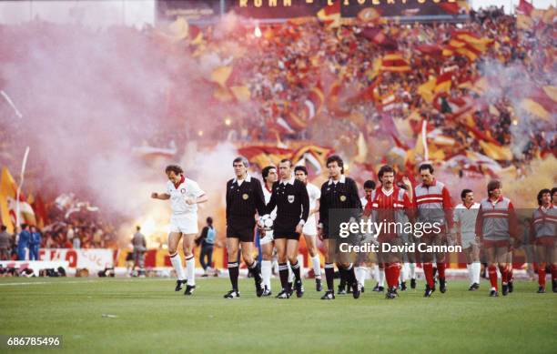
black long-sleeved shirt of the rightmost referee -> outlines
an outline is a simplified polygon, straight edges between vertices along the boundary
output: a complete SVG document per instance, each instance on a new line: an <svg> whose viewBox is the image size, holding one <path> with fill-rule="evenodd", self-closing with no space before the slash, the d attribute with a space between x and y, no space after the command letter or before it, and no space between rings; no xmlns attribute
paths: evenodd
<svg viewBox="0 0 557 354"><path fill-rule="evenodd" d="M334 183L332 178L321 185L319 199L319 223L329 229L329 209L354 209L352 217L361 214L361 201L356 182L344 175Z"/></svg>

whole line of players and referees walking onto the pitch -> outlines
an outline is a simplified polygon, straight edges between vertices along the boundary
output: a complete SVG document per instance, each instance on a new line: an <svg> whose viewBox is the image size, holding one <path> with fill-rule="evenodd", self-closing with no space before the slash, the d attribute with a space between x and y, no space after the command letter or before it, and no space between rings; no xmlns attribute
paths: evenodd
<svg viewBox="0 0 557 354"><path fill-rule="evenodd" d="M298 261L299 238L303 235L315 275L316 290L322 290L321 267L317 239L323 241L325 253L325 278L327 289L322 299L334 299L334 267L339 269L340 282L351 288L354 298L360 298L364 290L366 266L377 263L378 286L383 290L387 280L386 298L397 298L398 288L406 289L405 279L410 276L410 286L415 288L415 265L421 262L426 287L424 297L430 297L436 289L437 279L441 293L447 291L445 279L446 254L444 252L383 252L358 254L351 262L348 253L339 252L338 214L350 220L360 217L374 222L429 222L441 225L436 232L424 234L420 239L397 231L379 232L373 235L379 245L409 245L421 242L427 246L441 246L456 242L461 245L467 258L471 280L470 290L480 287L480 250L487 260L491 282L490 296L499 296L497 268L501 273L501 293L512 292L512 249L522 243L518 218L511 200L503 197L501 182L492 180L487 186L488 197L474 202L470 189L461 191L462 203L451 205L449 189L434 176L430 164L419 167L421 183L412 187L410 180L402 179L395 184L395 171L390 166L380 168L380 186L373 181L364 184L365 197L359 196L356 182L344 175L343 161L339 156L327 159L329 179L316 187L308 182L305 167L294 167L289 159L283 159L279 167L269 166L262 170L263 186L258 178L248 174L248 160L237 157L233 163L235 177L228 180L226 192L228 275L231 289L224 298L239 298L238 274L240 254L255 280L258 297L272 295L270 278L272 255L276 250L279 263L281 289L277 298L290 298L294 292L298 298L304 294ZM192 295L195 288L194 239L197 235L197 204L208 200L197 183L184 176L181 167L166 168L168 177L165 193L152 193L157 199L170 199L172 217L168 236L168 252L177 272L179 291L186 285L185 295ZM552 291L557 292L557 202L556 188L542 189L538 194L539 207L533 211L530 222L529 242L535 247L538 261L538 292L545 291L545 268L552 273ZM316 219L319 214L319 223ZM272 228L260 221L262 216L273 219ZM262 261L253 258L254 230L259 238ZM440 231L441 230L441 231ZM183 238L186 273L182 268L177 245ZM398 248L397 248L398 249ZM435 248L430 248L435 249ZM373 259L372 259L373 258ZM434 267L434 265L436 267ZM405 274L401 276L400 272Z"/></svg>

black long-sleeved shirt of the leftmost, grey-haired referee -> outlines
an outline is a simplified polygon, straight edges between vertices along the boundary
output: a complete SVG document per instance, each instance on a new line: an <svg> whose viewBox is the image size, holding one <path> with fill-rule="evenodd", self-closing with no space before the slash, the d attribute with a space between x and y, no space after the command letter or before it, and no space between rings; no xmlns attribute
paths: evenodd
<svg viewBox="0 0 557 354"><path fill-rule="evenodd" d="M265 197L258 178L244 179L238 186L236 178L227 182L227 225L235 228L254 228L256 211L265 213Z"/></svg>

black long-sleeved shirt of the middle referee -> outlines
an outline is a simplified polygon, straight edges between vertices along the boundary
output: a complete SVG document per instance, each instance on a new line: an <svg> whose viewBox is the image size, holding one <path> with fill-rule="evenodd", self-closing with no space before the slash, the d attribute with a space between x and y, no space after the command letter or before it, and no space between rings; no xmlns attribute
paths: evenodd
<svg viewBox="0 0 557 354"><path fill-rule="evenodd" d="M279 180L273 183L271 198L267 205L267 214L277 207L275 229L294 229L299 220L308 221L308 188L298 179Z"/></svg>

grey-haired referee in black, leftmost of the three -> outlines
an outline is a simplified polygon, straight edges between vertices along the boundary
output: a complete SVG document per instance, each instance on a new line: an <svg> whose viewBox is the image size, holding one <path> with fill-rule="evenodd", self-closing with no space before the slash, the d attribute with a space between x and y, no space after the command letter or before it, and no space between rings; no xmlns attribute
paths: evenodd
<svg viewBox="0 0 557 354"><path fill-rule="evenodd" d="M228 275L232 290L225 298L239 298L238 291L238 248L241 242L242 258L253 275L258 297L263 293L261 268L252 256L256 211L265 214L265 197L257 178L248 175L248 159L236 157L232 162L235 178L227 182L227 251Z"/></svg>

